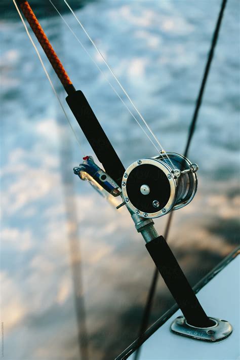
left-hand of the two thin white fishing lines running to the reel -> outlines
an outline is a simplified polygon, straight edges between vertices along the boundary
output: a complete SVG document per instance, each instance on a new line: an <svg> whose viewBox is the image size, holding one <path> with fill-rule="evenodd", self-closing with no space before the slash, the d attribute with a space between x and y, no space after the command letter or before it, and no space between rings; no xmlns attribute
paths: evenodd
<svg viewBox="0 0 240 360"><path fill-rule="evenodd" d="M77 42L82 46L82 48L84 49L84 51L88 54L88 56L90 57L90 59L93 61L93 63L96 65L96 67L98 68L98 70L100 71L100 73L104 76L105 80L107 81L107 83L109 84L109 86L111 87L111 89L114 91L114 93L117 95L117 97L122 101L122 103L124 104L124 106L127 108L127 110L130 112L130 114L133 116L133 118L135 119L135 121L137 122L137 124L140 126L140 128L142 129L142 131L144 132L144 134L147 136L147 138L150 140L150 142L152 143L152 145L155 147L155 149L157 150L157 152L161 153L159 151L159 149L157 148L157 146L154 144L154 142L152 141L152 139L149 137L149 135L146 133L146 131L143 129L143 127L141 126L141 124L139 123L139 121L137 120L137 118L134 116L134 114L132 113L132 111L130 110L130 108L128 107L128 105L125 103L125 101L123 100L123 98L118 94L118 92L116 91L116 89L113 87L113 85L109 82L107 76L104 74L104 72L101 70L101 68L98 66L98 64L96 63L96 61L93 59L93 57L90 55L90 53L88 52L88 50L85 48L85 46L83 45L83 43L81 42L81 40L77 37L77 35L75 34L75 32L72 30L71 26L67 23L67 21L64 19L64 17L61 15L61 13L59 12L59 10L56 8L56 6L53 4L53 2L51 0L49 0L49 2L52 4L52 6L54 7L54 9L57 11L58 15L61 17L61 19L64 21L65 25L68 27L68 29L71 31L71 33L73 34L73 36L76 38Z"/></svg>

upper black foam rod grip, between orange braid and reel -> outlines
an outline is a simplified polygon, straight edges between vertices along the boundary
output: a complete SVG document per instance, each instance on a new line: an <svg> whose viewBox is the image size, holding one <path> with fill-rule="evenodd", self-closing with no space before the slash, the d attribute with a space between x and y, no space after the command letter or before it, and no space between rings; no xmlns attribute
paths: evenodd
<svg viewBox="0 0 240 360"><path fill-rule="evenodd" d="M106 173L121 187L125 168L86 97L78 90L69 94L66 101Z"/></svg>

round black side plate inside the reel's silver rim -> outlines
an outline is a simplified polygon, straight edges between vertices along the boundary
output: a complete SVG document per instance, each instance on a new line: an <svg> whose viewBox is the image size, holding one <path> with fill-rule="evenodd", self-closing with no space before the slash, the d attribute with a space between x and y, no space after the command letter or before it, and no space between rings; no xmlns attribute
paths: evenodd
<svg viewBox="0 0 240 360"><path fill-rule="evenodd" d="M148 194L142 194L140 188L147 185ZM163 209L169 201L171 187L167 175L154 165L142 164L134 168L127 180L126 190L133 206L145 213L156 213ZM153 206L153 201L159 202L159 207Z"/></svg>

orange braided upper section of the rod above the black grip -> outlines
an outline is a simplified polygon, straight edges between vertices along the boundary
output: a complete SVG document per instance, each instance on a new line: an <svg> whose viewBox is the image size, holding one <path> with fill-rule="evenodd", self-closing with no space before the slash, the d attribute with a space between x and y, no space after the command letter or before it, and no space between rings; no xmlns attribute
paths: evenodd
<svg viewBox="0 0 240 360"><path fill-rule="evenodd" d="M27 19L29 25L32 28L32 31L36 35L38 42L41 44L45 54L47 55L52 67L54 68L56 74L58 75L62 85L66 88L68 85L72 85L72 82L64 69L61 61L59 60L57 54L55 53L52 45L49 42L47 35L45 34L42 26L39 24L35 14L33 13L28 2L20 4L20 8Z"/></svg>

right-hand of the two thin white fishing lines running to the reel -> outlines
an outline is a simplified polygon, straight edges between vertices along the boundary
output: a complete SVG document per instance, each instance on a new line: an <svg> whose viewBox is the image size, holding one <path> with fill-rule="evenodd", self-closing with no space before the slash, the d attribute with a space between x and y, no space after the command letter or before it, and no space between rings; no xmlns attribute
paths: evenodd
<svg viewBox="0 0 240 360"><path fill-rule="evenodd" d="M50 0L51 2L51 0ZM130 101L130 103L132 104L132 106L134 107L135 111L138 113L138 115L140 116L142 122L144 123L144 125L146 126L146 128L148 129L148 131L150 132L150 134L152 135L152 137L154 138L154 140L156 141L156 143L158 144L159 148L162 151L157 150L161 155L162 152L165 153L165 150L163 148L163 146L161 145L161 143L159 142L159 140L157 139L157 137L155 136L155 134L153 133L153 131L150 129L150 127L148 126L147 122L145 121L144 117L142 116L142 114L139 112L139 110L137 109L137 107L134 105L133 101L131 100L130 96L128 95L127 91L125 90L125 88L122 86L122 84L119 82L118 78L116 77L116 75L114 74L113 70L111 69L111 67L108 65L107 61L105 60L104 56L102 55L102 53L100 52L100 50L98 49L98 47L96 46L96 44L94 43L93 39L91 38L91 36L88 34L87 30L85 29L85 27L83 26L83 24L81 23L81 21L77 18L77 16L75 15L74 11L72 10L72 8L70 7L70 5L68 4L67 0L64 0L64 3L66 4L66 6L69 8L69 10L71 11L71 13L73 14L74 18L76 19L76 21L78 22L78 24L82 27L82 29L84 30L85 34L87 35L88 39L90 40L90 42L92 43L92 45L94 46L94 48L96 49L96 51L98 52L98 54L100 55L101 59L103 60L103 62L105 63L105 65L107 66L108 70L110 71L110 73L112 74L112 76L114 77L115 81L117 82L118 86L122 89L122 91L124 92L124 94L126 95L126 97L128 98L128 100ZM95 63L95 62L94 62ZM99 67L98 67L99 68ZM102 72L102 71L101 71ZM105 75L104 75L105 77ZM112 86L111 86L112 87ZM121 98L122 99L122 98ZM132 114L132 113L131 113ZM134 117L135 118L135 117ZM135 118L136 120L136 118ZM138 123L138 122L137 122ZM139 123L138 123L139 124ZM163 155L162 155L163 156ZM171 165L173 166L173 168L176 170L174 164L172 163L171 159L169 158L168 154L166 153L166 157L168 158L168 161L171 163ZM164 158L165 159L165 158Z"/></svg>

